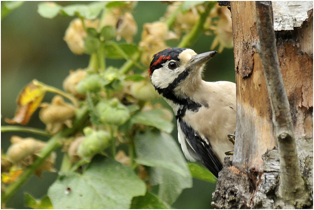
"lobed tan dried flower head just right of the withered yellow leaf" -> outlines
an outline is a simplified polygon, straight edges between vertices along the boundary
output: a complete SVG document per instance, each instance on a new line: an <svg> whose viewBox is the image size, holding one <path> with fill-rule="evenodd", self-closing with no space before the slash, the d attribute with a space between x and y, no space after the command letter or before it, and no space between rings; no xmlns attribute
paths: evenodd
<svg viewBox="0 0 314 210"><path fill-rule="evenodd" d="M75 116L75 108L69 103L65 103L63 98L56 95L51 104L42 103L39 118L46 124L47 131L56 133L63 125L72 127L72 120Z"/></svg>

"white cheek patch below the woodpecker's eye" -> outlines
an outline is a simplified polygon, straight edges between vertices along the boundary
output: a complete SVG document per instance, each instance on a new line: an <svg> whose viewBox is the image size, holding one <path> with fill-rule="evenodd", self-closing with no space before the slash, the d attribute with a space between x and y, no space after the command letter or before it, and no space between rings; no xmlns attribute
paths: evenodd
<svg viewBox="0 0 314 210"><path fill-rule="evenodd" d="M178 77L180 73L180 71L169 71L166 68L159 68L154 70L151 80L154 86L166 88Z"/></svg>

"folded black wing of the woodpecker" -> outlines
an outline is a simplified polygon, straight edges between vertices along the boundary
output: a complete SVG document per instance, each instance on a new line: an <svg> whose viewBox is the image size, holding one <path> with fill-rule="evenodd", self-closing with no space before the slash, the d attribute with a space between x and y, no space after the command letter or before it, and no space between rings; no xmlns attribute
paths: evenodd
<svg viewBox="0 0 314 210"><path fill-rule="evenodd" d="M182 119L179 119L181 130L187 140L190 142L198 157L202 160L206 168L218 178L218 173L222 169L222 164L214 153L210 143L207 144L192 127L187 125ZM208 141L209 142L209 141Z"/></svg>

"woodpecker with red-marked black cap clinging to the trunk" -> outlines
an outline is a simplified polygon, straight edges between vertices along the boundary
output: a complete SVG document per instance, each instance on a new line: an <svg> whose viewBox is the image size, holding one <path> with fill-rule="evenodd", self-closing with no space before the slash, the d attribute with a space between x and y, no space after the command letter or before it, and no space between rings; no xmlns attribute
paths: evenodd
<svg viewBox="0 0 314 210"><path fill-rule="evenodd" d="M216 53L168 48L154 55L149 75L175 112L185 157L201 160L218 177L225 152L234 148L227 135L236 129L236 84L202 80L204 64Z"/></svg>

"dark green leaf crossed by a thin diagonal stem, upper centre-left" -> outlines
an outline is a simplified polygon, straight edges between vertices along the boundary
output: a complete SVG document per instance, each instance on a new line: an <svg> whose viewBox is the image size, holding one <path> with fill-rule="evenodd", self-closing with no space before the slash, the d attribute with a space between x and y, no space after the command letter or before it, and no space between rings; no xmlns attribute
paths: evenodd
<svg viewBox="0 0 314 210"><path fill-rule="evenodd" d="M138 47L134 44L117 44L128 57L132 57L134 53L138 52ZM110 59L124 59L123 55L116 50L116 48L110 44L106 44L105 47L105 55Z"/></svg>

